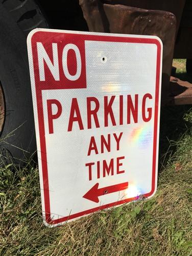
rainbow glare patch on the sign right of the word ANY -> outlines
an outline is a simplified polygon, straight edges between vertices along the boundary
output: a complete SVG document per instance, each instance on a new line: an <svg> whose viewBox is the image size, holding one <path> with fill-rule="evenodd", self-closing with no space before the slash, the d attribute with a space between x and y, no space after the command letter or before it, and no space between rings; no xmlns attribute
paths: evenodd
<svg viewBox="0 0 192 256"><path fill-rule="evenodd" d="M147 147L152 142L153 133L149 125L134 128L129 136L132 144L137 144L139 147Z"/></svg>

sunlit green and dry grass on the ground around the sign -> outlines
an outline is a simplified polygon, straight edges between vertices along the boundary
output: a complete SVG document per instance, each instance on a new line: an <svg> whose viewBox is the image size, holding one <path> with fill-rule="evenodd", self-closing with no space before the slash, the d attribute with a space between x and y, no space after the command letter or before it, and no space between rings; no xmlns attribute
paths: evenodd
<svg viewBox="0 0 192 256"><path fill-rule="evenodd" d="M192 255L191 127L191 106L163 107L155 196L62 227L42 224L33 162L2 168L0 255Z"/></svg>

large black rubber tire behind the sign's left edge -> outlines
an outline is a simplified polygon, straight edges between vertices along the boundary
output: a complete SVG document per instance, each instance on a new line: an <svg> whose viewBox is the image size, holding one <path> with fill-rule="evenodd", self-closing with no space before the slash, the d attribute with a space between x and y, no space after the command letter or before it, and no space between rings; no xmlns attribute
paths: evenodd
<svg viewBox="0 0 192 256"><path fill-rule="evenodd" d="M0 165L20 164L36 151L26 38L37 27L47 24L33 0L0 0L0 82L6 104Z"/></svg>

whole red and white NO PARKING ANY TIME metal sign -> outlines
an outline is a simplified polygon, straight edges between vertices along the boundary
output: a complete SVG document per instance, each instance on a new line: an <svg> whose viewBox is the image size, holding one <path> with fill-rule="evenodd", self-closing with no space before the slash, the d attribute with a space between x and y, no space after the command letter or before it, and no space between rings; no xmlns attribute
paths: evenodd
<svg viewBox="0 0 192 256"><path fill-rule="evenodd" d="M28 54L45 223L154 195L160 39L35 29Z"/></svg>

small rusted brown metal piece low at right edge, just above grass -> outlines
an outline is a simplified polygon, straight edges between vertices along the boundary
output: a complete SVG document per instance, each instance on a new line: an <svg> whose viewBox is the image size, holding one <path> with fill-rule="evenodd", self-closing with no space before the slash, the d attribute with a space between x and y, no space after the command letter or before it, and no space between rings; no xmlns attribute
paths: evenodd
<svg viewBox="0 0 192 256"><path fill-rule="evenodd" d="M192 84L171 76L169 104L192 104Z"/></svg>

